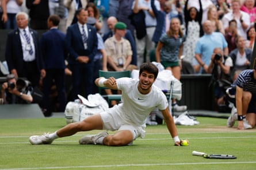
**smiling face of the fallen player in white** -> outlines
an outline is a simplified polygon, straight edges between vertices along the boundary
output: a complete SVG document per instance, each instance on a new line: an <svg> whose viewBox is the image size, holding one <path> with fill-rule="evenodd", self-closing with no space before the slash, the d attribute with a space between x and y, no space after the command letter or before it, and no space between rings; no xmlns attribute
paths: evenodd
<svg viewBox="0 0 256 170"><path fill-rule="evenodd" d="M146 71L142 72L139 76L138 90L142 94L147 94L151 90L152 84L155 82L155 76L152 73Z"/></svg>

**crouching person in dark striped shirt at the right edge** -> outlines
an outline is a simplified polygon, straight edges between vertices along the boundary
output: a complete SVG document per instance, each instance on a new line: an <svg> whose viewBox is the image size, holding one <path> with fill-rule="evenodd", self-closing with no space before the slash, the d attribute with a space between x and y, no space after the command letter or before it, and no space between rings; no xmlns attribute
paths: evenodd
<svg viewBox="0 0 256 170"><path fill-rule="evenodd" d="M256 124L256 65L243 70L231 88L227 89L228 100L235 104L228 117L227 126L238 120L238 129L251 129Z"/></svg>

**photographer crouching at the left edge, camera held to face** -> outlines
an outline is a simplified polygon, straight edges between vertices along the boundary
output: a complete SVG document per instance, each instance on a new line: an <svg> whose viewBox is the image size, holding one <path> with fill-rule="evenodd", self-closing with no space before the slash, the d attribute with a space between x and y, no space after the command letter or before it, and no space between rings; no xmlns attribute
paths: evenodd
<svg viewBox="0 0 256 170"><path fill-rule="evenodd" d="M33 101L32 86L29 81L19 78L14 74L6 77L6 82L2 84L0 104L26 104Z"/></svg>

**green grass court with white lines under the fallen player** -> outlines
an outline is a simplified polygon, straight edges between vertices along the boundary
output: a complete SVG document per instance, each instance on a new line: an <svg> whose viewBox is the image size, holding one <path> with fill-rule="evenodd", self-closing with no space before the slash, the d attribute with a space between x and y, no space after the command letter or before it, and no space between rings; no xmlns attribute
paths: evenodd
<svg viewBox="0 0 256 170"><path fill-rule="evenodd" d="M7 113L6 113L7 114ZM179 126L188 147L174 147L166 125L147 126L144 139L130 147L79 145L81 132L57 139L51 145L31 145L31 135L54 132L64 118L1 119L0 170L3 169L255 169L256 130L226 127L225 118L197 117L200 125ZM237 124L235 124L237 126ZM110 132L113 133L113 132ZM235 155L234 160L204 159L192 151Z"/></svg>

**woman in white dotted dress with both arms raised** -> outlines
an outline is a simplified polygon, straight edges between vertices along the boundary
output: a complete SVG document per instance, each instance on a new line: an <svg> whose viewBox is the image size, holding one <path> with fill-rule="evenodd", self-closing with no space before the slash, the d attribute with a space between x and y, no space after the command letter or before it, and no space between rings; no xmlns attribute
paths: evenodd
<svg viewBox="0 0 256 170"><path fill-rule="evenodd" d="M192 64L194 58L194 48L196 46L197 39L203 34L201 21L202 21L202 5L199 0L200 10L196 7L190 7L188 9L188 2L186 1L184 6L184 17L186 26L186 41L184 42L183 54L184 60Z"/></svg>

